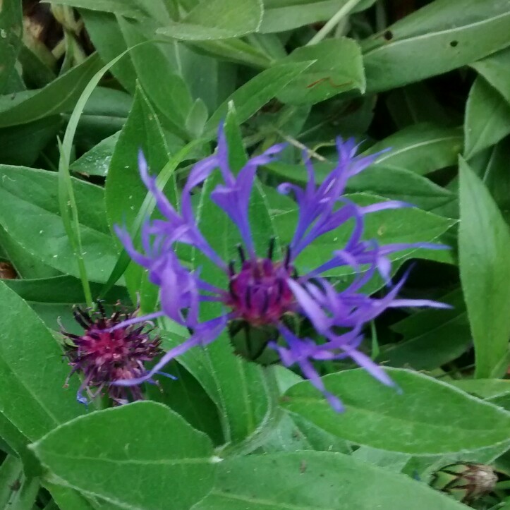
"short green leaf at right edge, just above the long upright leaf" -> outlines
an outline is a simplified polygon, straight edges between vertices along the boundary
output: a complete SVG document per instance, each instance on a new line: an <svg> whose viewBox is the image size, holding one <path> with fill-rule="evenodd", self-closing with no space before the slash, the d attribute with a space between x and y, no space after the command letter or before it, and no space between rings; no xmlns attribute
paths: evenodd
<svg viewBox="0 0 510 510"><path fill-rule="evenodd" d="M483 78L476 78L466 104L464 156L472 157L509 133L510 104Z"/></svg>

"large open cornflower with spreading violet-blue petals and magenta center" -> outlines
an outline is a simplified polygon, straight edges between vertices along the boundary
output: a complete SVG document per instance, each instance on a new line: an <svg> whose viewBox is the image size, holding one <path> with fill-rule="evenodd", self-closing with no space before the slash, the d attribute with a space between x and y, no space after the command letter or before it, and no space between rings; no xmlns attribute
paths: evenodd
<svg viewBox="0 0 510 510"><path fill-rule="evenodd" d="M325 389L315 370L315 360L351 358L382 383L393 384L384 370L358 350L363 339L363 326L387 308L444 305L430 300L396 298L405 278L384 298L370 298L360 289L375 272L390 283L388 255L391 253L408 248L444 247L427 243L379 246L375 241L363 241L363 217L366 214L409 205L388 200L362 207L344 197L348 179L367 168L377 154L356 156L355 142L344 142L339 138L336 141L338 163L322 183L316 183L312 163L304 154L308 171L306 186L301 188L293 183L283 183L278 188L279 193L293 195L298 205L296 230L284 250L284 256L275 260L274 240L269 239L267 253L257 254L248 219L248 202L257 167L273 162L283 147L274 145L252 157L235 175L229 167L228 147L220 126L217 151L193 166L183 186L180 212L157 188L156 179L148 173L147 163L140 152L138 163L142 181L154 196L164 219L147 220L142 226L142 252L135 249L125 228L117 227L116 233L130 257L148 269L150 281L159 286L161 310L134 318L126 324L166 315L187 327L191 334L186 341L162 356L152 370L141 377L117 380L114 384L130 386L150 379L169 360L194 346L210 344L236 320L245 321L249 327L271 326L275 337L269 341L269 347L279 353L284 365L297 364L336 411L341 411L341 402ZM216 170L223 182L212 190L210 198L228 215L241 234L243 242L238 246L238 262L221 260L202 235L193 213L193 190ZM353 222L348 243L334 250L320 267L298 274L295 266L298 255L324 233L348 221ZM224 286L208 282L199 268L189 269L183 265L175 251L178 243L193 246L217 265L224 273ZM340 266L350 266L356 272L356 278L341 291L324 277L324 272ZM222 303L224 312L211 320L200 321L201 304L210 301ZM322 337L322 343L308 337L300 338L288 325L286 317L289 315L308 319Z"/></svg>

